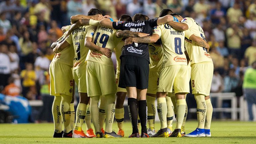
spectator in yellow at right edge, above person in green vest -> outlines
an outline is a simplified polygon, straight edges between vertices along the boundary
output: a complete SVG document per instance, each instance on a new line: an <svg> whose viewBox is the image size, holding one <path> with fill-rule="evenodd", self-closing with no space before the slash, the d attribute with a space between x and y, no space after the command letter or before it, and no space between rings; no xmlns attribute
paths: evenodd
<svg viewBox="0 0 256 144"><path fill-rule="evenodd" d="M244 57L248 61L248 65L252 65L256 61L256 40L252 42L252 46L246 49Z"/></svg>

